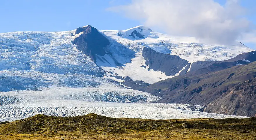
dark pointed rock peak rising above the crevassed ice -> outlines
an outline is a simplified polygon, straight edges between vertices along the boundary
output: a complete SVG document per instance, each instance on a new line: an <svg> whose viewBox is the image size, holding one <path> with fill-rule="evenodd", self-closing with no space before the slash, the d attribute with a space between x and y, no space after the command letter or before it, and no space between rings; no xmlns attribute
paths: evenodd
<svg viewBox="0 0 256 140"><path fill-rule="evenodd" d="M82 34L80 34L83 32ZM92 60L96 61L96 55L105 55L104 48L110 44L108 39L99 31L88 25L86 27L77 28L75 34L80 34L74 39L73 44L77 45L78 50L88 55Z"/></svg>

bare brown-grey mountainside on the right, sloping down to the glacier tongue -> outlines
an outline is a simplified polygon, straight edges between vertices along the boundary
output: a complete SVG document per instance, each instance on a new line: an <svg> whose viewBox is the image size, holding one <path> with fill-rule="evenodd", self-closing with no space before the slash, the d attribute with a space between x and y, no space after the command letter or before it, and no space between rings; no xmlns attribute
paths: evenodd
<svg viewBox="0 0 256 140"><path fill-rule="evenodd" d="M255 116L256 62L208 74L176 76L142 91L160 96L162 103L207 106L206 111Z"/></svg>

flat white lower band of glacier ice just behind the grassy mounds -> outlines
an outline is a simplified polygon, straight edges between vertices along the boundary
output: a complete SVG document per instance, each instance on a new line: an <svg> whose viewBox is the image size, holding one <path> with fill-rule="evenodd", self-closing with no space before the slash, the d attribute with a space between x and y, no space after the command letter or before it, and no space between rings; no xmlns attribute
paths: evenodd
<svg viewBox="0 0 256 140"><path fill-rule="evenodd" d="M58 94L48 93L49 91L47 91L44 92L48 94L46 98L43 92L37 92L37 94L34 92L22 93L18 96L20 96L20 98L25 97L26 99L21 99L23 101L1 106L0 121L13 121L28 118L36 114L71 117L86 115L88 113L96 113L98 115L114 118L143 119L248 118L245 116L205 113L201 112L203 110L202 106L189 104L85 101L76 95L73 95L76 96L76 98L73 98L69 95L70 91L53 89L52 92L58 92ZM56 95L60 95L60 97ZM17 94L10 93L9 96L15 97ZM32 99L35 99L35 101Z"/></svg>

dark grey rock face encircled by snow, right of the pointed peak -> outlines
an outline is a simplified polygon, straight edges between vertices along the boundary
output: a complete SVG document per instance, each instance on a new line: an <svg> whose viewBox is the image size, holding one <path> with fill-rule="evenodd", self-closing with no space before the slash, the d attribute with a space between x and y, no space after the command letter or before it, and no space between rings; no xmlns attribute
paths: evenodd
<svg viewBox="0 0 256 140"><path fill-rule="evenodd" d="M181 59L177 55L158 53L151 48L143 48L142 56L146 60L146 65L154 71L164 72L167 76L172 76L188 65L188 61ZM185 70L185 69L184 69Z"/></svg>

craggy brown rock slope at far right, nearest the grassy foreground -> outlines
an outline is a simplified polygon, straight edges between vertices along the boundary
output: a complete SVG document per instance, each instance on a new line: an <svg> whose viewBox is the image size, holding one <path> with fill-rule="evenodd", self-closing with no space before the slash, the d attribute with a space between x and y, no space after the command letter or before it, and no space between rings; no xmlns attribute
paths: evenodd
<svg viewBox="0 0 256 140"><path fill-rule="evenodd" d="M256 78L240 83L211 102L205 111L256 117Z"/></svg>

